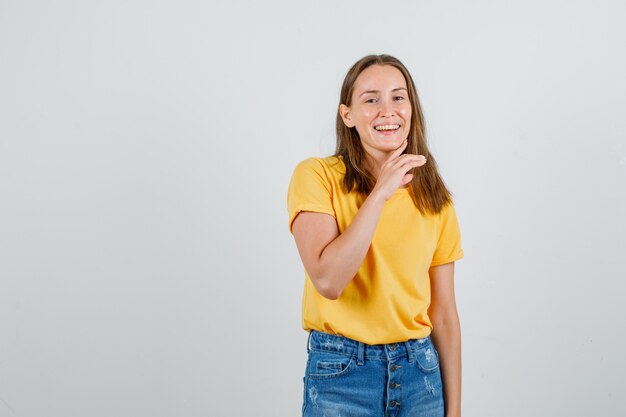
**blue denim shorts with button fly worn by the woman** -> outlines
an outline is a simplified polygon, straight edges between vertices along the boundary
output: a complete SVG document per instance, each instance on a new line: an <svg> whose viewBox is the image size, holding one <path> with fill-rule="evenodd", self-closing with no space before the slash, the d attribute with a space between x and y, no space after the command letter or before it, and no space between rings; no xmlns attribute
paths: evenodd
<svg viewBox="0 0 626 417"><path fill-rule="evenodd" d="M312 330L303 417L443 417L439 354L430 336L367 345Z"/></svg>

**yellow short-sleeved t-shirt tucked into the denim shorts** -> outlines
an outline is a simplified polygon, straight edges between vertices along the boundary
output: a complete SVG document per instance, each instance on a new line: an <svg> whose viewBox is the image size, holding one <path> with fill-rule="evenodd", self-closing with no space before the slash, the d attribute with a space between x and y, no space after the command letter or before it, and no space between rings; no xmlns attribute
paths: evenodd
<svg viewBox="0 0 626 417"><path fill-rule="evenodd" d="M341 158L309 158L293 172L287 193L289 230L301 211L327 213L339 233L350 225L365 197L345 193ZM426 337L432 330L431 266L463 257L453 205L437 215L422 215L408 189L401 188L383 207L371 246L355 277L337 300L321 296L305 270L302 326L367 344Z"/></svg>

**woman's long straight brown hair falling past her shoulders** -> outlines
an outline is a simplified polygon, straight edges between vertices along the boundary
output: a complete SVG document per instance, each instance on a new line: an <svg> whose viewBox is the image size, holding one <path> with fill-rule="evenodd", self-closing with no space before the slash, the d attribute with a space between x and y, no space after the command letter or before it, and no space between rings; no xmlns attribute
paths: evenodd
<svg viewBox="0 0 626 417"><path fill-rule="evenodd" d="M352 93L357 77L366 68L372 65L390 65L397 68L408 88L409 101L411 103L411 127L407 138L407 147L403 153L424 155L428 161L425 165L413 168L409 173L413 174L409 187L411 197L417 209L426 212L439 213L446 204L452 202L452 194L446 187L437 170L435 158L428 150L426 143L426 128L422 107L417 96L417 90L411 74L397 58L391 55L368 55L358 60L346 74L341 86L339 104L348 107L352 105ZM337 111L336 121L337 148L334 156L341 157L346 166L346 174L343 185L347 192L356 187L356 191L365 195L372 192L376 179L366 168L366 154L361 144L361 139L355 127L348 127Z"/></svg>

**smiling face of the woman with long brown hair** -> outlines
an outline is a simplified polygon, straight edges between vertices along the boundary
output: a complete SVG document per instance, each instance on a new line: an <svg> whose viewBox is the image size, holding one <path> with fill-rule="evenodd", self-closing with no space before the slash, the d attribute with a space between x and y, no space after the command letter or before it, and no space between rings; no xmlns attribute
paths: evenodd
<svg viewBox="0 0 626 417"><path fill-rule="evenodd" d="M356 128L365 151L384 157L409 136L411 102L404 76L391 65L372 65L359 74L350 107L339 112L348 127Z"/></svg>

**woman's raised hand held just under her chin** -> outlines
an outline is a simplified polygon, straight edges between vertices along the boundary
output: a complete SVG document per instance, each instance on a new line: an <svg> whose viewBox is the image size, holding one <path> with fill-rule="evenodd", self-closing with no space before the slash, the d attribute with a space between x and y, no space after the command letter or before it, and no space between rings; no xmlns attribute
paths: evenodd
<svg viewBox="0 0 626 417"><path fill-rule="evenodd" d="M398 188L411 182L413 174L408 174L411 169L426 164L424 155L402 155L402 151L406 149L407 145L408 142L405 140L381 166L372 194L377 193L385 201L389 200Z"/></svg>

